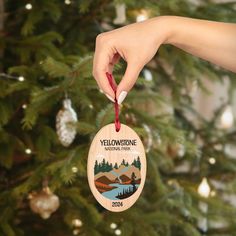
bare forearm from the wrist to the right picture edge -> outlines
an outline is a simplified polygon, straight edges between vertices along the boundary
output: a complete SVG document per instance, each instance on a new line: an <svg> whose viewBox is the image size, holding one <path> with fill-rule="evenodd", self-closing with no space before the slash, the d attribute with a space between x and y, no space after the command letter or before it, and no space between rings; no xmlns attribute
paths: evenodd
<svg viewBox="0 0 236 236"><path fill-rule="evenodd" d="M236 72L236 24L164 16L166 39L184 51Z"/></svg>

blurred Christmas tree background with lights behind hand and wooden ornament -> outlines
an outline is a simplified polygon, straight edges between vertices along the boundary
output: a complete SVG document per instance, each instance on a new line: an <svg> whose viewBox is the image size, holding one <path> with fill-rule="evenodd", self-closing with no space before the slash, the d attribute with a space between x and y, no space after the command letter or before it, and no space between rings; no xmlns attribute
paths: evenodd
<svg viewBox="0 0 236 236"><path fill-rule="evenodd" d="M90 143L114 120L95 38L159 15L236 23L236 2L0 0L1 236L236 235L236 74L169 45L121 107L147 155L139 200L112 213L89 189Z"/></svg>

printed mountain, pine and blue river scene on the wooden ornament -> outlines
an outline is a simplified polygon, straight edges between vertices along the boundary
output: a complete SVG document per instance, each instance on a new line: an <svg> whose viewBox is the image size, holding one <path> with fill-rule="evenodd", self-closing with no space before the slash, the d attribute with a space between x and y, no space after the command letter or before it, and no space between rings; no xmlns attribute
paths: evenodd
<svg viewBox="0 0 236 236"><path fill-rule="evenodd" d="M132 163L124 159L118 165L103 159L95 161L94 183L96 189L105 197L116 200L125 199L134 194L141 183L141 162L137 157Z"/></svg>

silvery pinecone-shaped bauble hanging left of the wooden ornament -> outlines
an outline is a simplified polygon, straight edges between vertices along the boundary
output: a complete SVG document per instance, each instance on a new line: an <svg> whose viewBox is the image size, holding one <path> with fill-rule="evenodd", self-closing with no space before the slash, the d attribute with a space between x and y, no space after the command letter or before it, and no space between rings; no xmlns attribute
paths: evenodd
<svg viewBox="0 0 236 236"><path fill-rule="evenodd" d="M68 147L74 141L77 121L77 114L71 106L71 100L65 99L63 108L56 117L57 135L63 146Z"/></svg>

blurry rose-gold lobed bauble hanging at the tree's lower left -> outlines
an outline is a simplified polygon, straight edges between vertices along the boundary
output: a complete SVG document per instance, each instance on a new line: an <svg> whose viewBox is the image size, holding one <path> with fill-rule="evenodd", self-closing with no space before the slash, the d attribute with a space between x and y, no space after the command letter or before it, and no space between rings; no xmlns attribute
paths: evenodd
<svg viewBox="0 0 236 236"><path fill-rule="evenodd" d="M31 210L39 214L43 219L48 219L60 205L58 196L53 194L49 187L43 188L38 193L31 193L29 199Z"/></svg>

